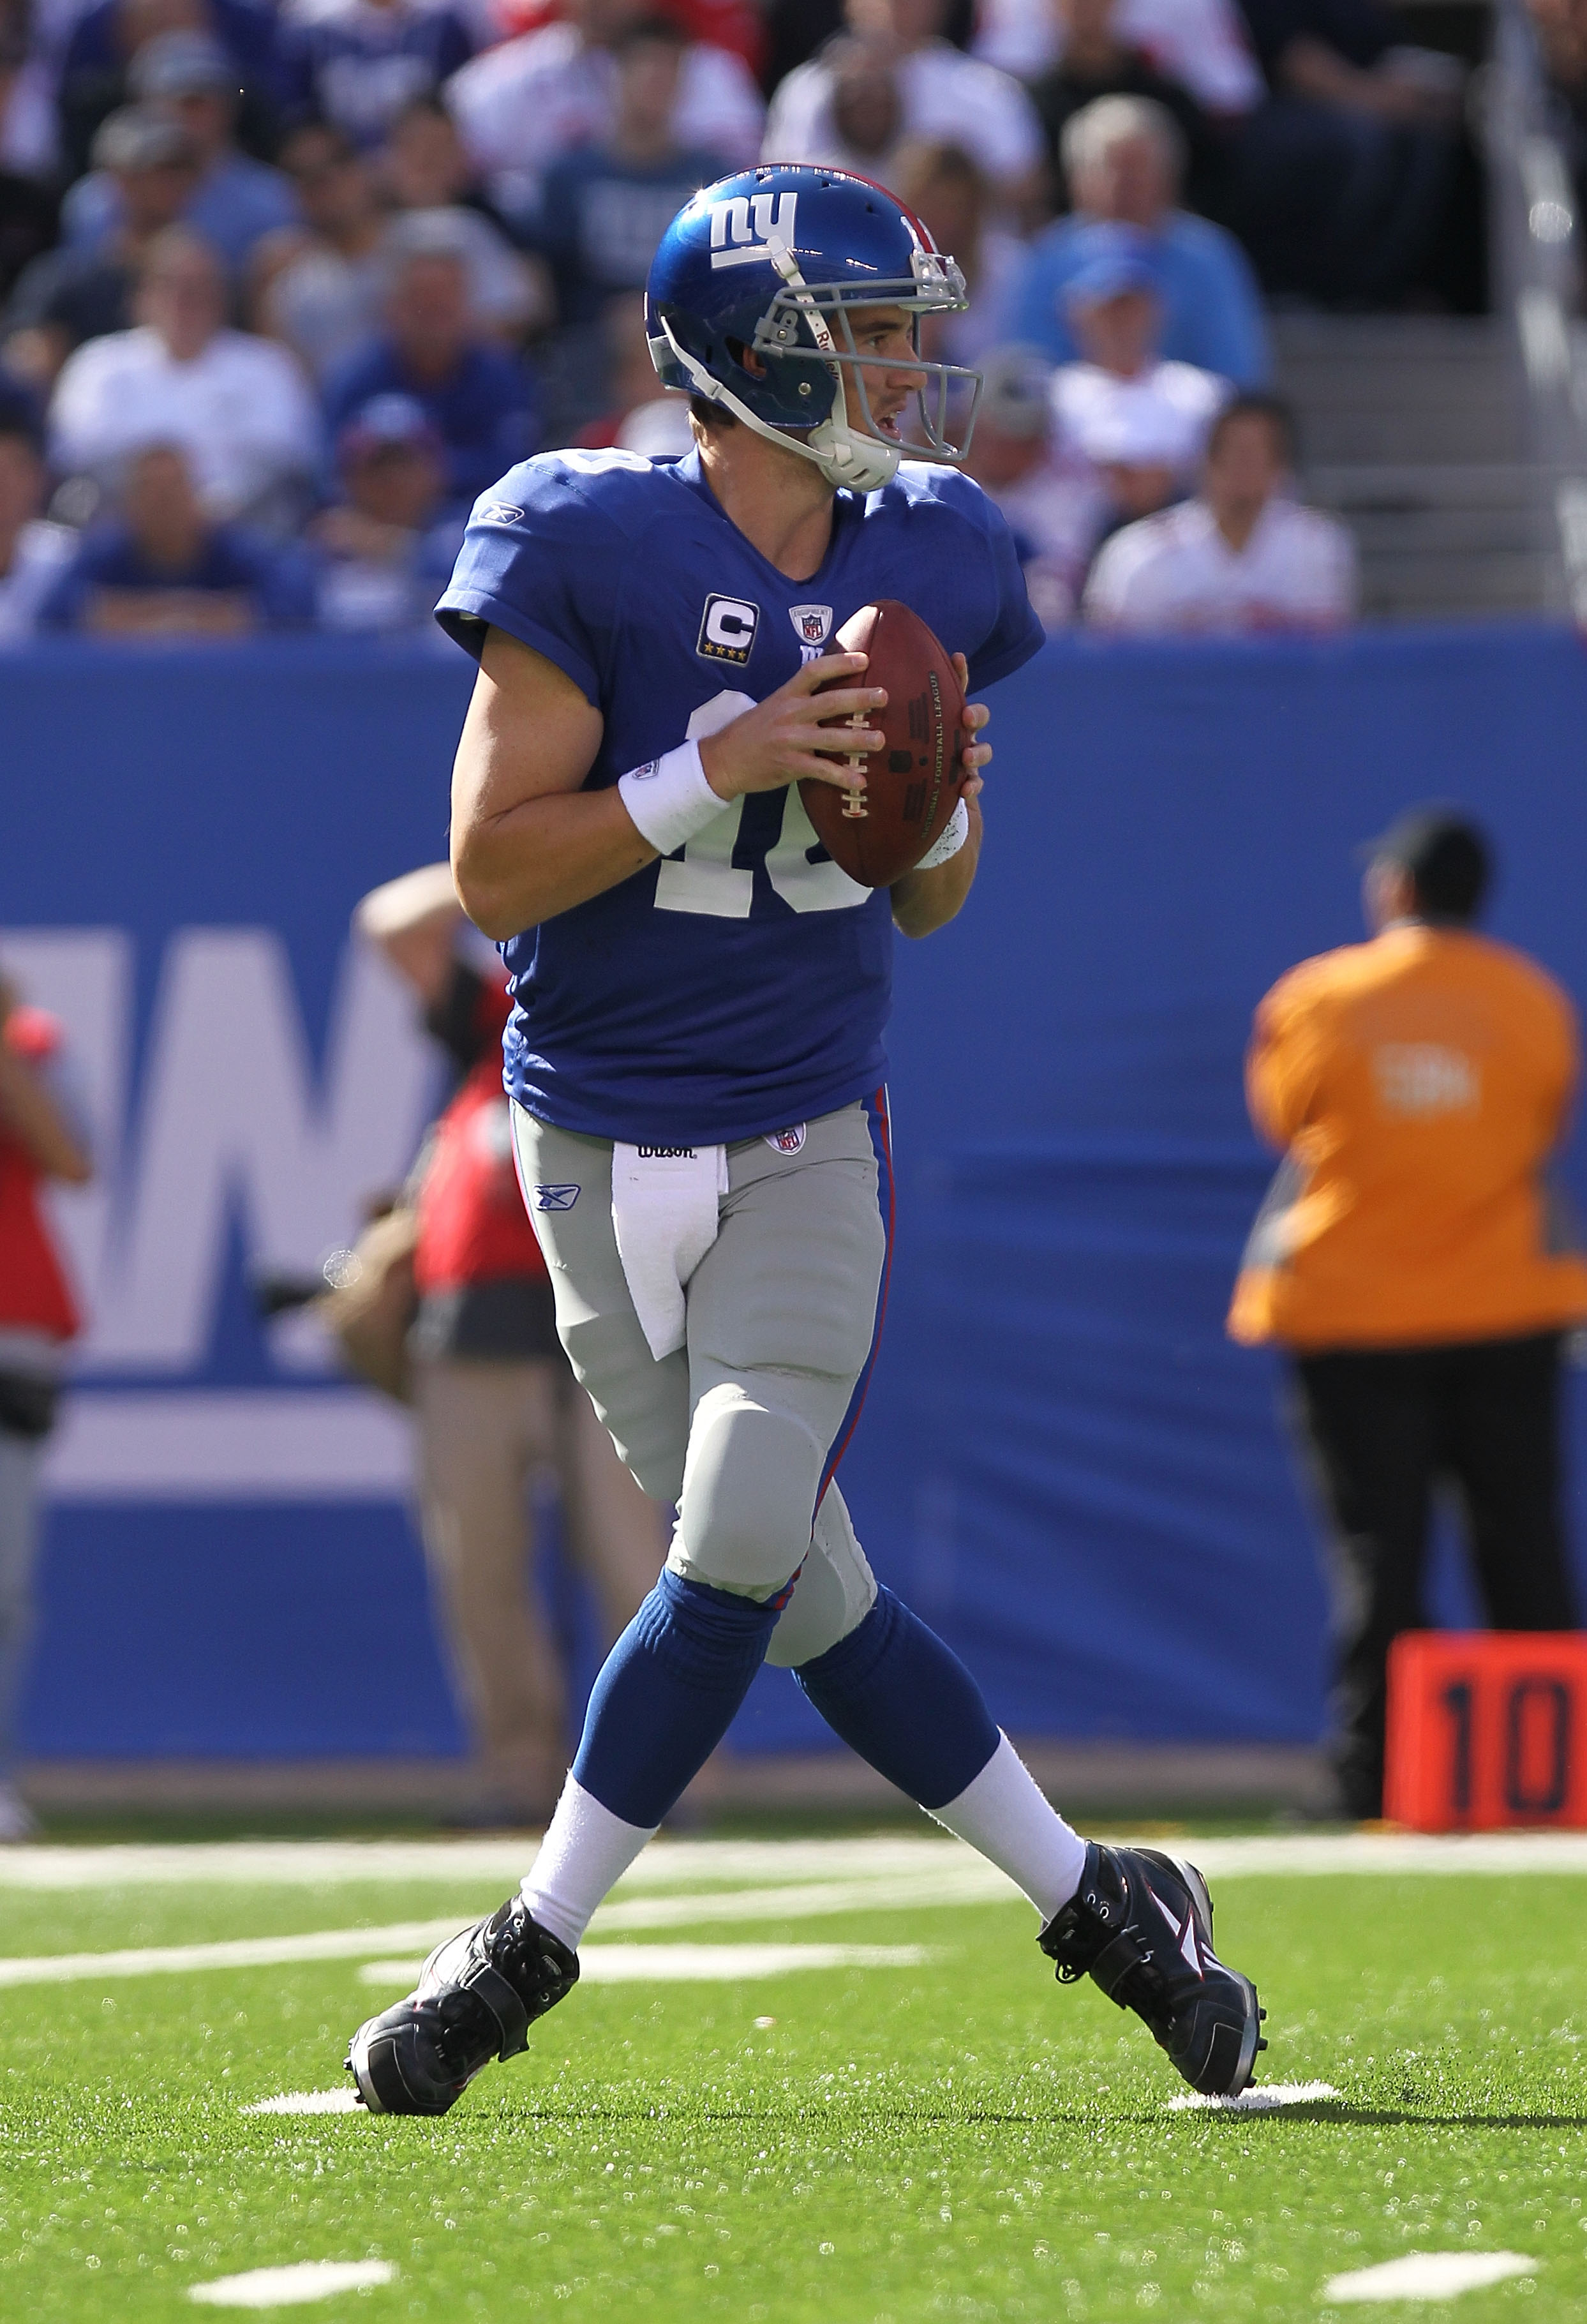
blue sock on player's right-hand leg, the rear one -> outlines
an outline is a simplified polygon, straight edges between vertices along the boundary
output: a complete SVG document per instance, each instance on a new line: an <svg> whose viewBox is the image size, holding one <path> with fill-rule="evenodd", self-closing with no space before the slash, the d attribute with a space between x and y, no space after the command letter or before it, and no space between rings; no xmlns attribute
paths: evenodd
<svg viewBox="0 0 1587 2324"><path fill-rule="evenodd" d="M957 1799L1001 1741L960 1657L890 1590L795 1678L827 1727L922 1808Z"/></svg>

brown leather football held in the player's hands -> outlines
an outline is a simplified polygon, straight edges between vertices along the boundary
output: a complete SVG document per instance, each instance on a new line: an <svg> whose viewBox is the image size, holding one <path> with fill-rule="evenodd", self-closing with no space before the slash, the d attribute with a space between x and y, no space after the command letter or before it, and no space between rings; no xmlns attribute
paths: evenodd
<svg viewBox="0 0 1587 2324"><path fill-rule="evenodd" d="M832 862L862 888L890 888L913 871L957 804L964 695L939 641L897 597L862 604L827 653L869 653L860 679L830 683L885 686L888 706L850 723L888 739L881 751L855 753L864 765L857 797L813 776L799 783L799 797ZM839 720L834 727L841 732Z"/></svg>

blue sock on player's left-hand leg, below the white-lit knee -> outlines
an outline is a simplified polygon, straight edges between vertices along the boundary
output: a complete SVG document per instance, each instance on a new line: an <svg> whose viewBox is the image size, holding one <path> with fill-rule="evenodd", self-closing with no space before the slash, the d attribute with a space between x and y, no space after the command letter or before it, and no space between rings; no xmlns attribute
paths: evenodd
<svg viewBox="0 0 1587 2324"><path fill-rule="evenodd" d="M583 1715L574 1778L602 1808L644 1831L660 1824L732 1727L778 1608L662 1569Z"/></svg>

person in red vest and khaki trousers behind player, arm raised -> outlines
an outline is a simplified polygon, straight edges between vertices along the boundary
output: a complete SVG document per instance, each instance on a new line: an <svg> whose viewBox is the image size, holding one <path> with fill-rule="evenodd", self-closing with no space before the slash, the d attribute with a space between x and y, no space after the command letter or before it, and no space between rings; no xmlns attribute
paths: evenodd
<svg viewBox="0 0 1587 2324"><path fill-rule="evenodd" d="M665 1511L620 1464L555 1334L546 1262L514 1171L507 976L462 918L448 865L374 888L356 916L407 978L462 1081L414 1174L409 1332L423 1538L479 1769L476 1813L534 1822L567 1773L567 1685L534 1587L537 1473L606 1643L655 1585Z"/></svg>

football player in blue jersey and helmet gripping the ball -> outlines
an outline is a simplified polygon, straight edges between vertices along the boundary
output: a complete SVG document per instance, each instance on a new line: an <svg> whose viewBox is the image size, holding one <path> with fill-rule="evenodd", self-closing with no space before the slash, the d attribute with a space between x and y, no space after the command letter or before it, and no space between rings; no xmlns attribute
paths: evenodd
<svg viewBox="0 0 1587 2324"><path fill-rule="evenodd" d="M1025 1889L1060 1978L1090 1973L1197 2089L1234 2094L1257 1994L1213 1954L1199 1873L1071 1831L964 1664L876 1583L834 1478L888 1285L892 930L962 906L990 751L976 704L941 841L860 888L797 783L860 788L818 720L885 697L864 655L823 648L876 597L906 600L967 686L1041 644L1008 530L960 474L978 379L918 351L964 279L864 179L760 167L674 218L646 304L695 451L511 469L439 618L481 665L453 871L514 978L507 1090L558 1329L678 1522L520 1894L444 1943L349 2066L372 2110L439 2115L523 2050L771 1659Z"/></svg>

